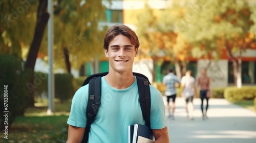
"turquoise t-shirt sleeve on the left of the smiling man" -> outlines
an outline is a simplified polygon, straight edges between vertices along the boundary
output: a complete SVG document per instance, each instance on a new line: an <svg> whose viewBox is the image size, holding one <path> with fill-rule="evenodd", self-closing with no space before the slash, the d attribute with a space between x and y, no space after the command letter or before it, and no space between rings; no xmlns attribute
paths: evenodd
<svg viewBox="0 0 256 143"><path fill-rule="evenodd" d="M86 108L88 103L88 85L79 88L72 99L68 124L85 128L87 124Z"/></svg>

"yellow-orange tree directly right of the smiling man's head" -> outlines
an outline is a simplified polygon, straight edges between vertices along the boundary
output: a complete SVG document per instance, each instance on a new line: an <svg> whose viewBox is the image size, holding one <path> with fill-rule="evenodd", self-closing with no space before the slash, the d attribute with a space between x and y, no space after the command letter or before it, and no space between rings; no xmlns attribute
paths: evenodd
<svg viewBox="0 0 256 143"><path fill-rule="evenodd" d="M176 21L184 18L183 11L184 8L176 3L174 6L167 6L164 10L153 10L146 5L139 11L136 25L141 43L140 57L153 58L154 67L156 64L161 64L161 57L173 61L179 78L185 74L190 57L188 50L191 49L184 34L176 30ZM153 75L155 75L154 71L152 71Z"/></svg>

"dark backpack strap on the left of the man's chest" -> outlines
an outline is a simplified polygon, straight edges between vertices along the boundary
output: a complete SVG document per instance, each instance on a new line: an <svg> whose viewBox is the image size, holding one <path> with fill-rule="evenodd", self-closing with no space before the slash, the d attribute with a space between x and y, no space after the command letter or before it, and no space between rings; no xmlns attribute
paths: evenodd
<svg viewBox="0 0 256 143"><path fill-rule="evenodd" d="M88 142L89 132L91 124L93 123L99 106L100 106L100 96L101 96L101 76L93 78L89 81L89 98L87 104L87 125L84 131L82 142Z"/></svg>

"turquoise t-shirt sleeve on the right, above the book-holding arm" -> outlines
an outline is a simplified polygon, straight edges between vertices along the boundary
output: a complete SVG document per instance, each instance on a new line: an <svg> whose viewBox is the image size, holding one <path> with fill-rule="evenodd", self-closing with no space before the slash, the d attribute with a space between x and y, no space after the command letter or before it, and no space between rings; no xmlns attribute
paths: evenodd
<svg viewBox="0 0 256 143"><path fill-rule="evenodd" d="M150 112L151 128L162 129L167 126L162 94L153 86L151 86L150 90L152 100Z"/></svg>

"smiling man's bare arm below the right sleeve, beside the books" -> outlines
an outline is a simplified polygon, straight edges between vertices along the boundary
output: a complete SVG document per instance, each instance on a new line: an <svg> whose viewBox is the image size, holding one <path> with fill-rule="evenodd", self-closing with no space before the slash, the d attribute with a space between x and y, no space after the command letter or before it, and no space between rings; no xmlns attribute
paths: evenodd
<svg viewBox="0 0 256 143"><path fill-rule="evenodd" d="M155 143L169 143L169 135L168 135L168 129L167 126L162 129L152 129L153 134L155 136Z"/></svg>

